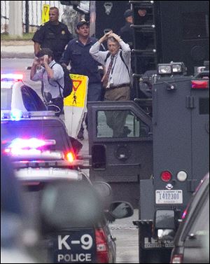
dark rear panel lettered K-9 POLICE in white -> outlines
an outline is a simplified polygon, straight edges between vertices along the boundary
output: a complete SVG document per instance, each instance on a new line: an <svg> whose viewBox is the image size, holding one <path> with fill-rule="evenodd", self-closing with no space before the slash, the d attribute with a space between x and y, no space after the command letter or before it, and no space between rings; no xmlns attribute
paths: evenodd
<svg viewBox="0 0 210 264"><path fill-rule="evenodd" d="M52 238L53 263L95 263L94 230L61 232Z"/></svg>

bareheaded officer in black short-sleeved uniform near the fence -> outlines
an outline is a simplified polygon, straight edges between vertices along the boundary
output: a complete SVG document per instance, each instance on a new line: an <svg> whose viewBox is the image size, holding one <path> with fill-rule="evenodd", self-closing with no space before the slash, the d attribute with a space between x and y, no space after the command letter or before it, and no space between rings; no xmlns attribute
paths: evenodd
<svg viewBox="0 0 210 264"><path fill-rule="evenodd" d="M33 36L35 56L41 48L50 48L52 50L55 62L59 62L66 45L71 39L72 34L68 27L59 22L59 10L51 7L49 11L50 21L41 25Z"/></svg>

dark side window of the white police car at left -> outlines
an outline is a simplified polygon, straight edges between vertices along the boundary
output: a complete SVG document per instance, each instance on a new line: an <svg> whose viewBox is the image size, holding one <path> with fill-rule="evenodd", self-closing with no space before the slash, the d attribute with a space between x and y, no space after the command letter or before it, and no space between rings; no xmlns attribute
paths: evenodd
<svg viewBox="0 0 210 264"><path fill-rule="evenodd" d="M24 85L21 88L22 101L27 111L45 111L45 105L38 97L36 92L30 87Z"/></svg>

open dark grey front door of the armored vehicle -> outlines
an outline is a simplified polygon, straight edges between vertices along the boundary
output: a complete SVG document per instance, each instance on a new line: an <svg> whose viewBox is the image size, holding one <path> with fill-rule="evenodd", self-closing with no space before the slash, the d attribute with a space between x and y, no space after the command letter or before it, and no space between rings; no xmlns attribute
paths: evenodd
<svg viewBox="0 0 210 264"><path fill-rule="evenodd" d="M88 102L87 107L90 178L109 182L115 200L137 204L139 180L148 179L153 171L151 117L131 101ZM107 119L112 115L114 125L121 125L115 137Z"/></svg>

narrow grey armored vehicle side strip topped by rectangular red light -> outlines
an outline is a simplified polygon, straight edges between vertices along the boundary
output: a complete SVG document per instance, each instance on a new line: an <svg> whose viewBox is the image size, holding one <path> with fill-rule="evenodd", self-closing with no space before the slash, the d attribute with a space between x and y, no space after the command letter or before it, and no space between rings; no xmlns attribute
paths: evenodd
<svg viewBox="0 0 210 264"><path fill-rule="evenodd" d="M197 86L192 83L191 89L192 169L193 179L199 182L209 172L209 80L197 78L195 82Z"/></svg>

